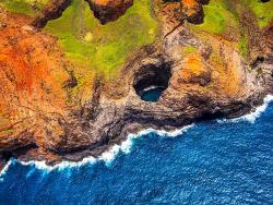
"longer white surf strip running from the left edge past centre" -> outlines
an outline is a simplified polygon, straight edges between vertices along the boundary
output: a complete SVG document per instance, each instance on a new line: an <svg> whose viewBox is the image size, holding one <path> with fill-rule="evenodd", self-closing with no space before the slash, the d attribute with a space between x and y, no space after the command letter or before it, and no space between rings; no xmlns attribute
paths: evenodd
<svg viewBox="0 0 273 205"><path fill-rule="evenodd" d="M146 130L142 130L140 132L138 132L136 134L129 134L127 136L127 140L121 142L120 145L115 144L111 148L109 148L108 150L104 152L100 156L98 156L97 158L95 157L85 157L83 158L81 161L61 161L59 164L56 164L54 166L49 166L46 164L45 160L43 161L37 161L37 160L31 160L31 161L21 161L17 159L10 159L9 162L5 165L5 167L2 169L2 171L0 172L0 178L3 177L9 167L11 165L13 165L14 162L19 162L23 166L34 166L36 169L38 170L43 170L45 172L50 172L52 170L63 170L63 169L68 169L68 168L76 168L76 167L81 167L84 165L94 165L98 161L104 161L106 166L110 166L111 162L115 160L115 158L118 156L119 153L123 153L123 154L129 154L131 152L131 148L133 146L133 141L136 138L140 138L144 135L151 134L151 133L155 133L159 136L164 136L164 137L176 137L177 135L181 135L182 133L187 132L189 129L193 128L194 124L190 124L190 125L186 125L181 129L177 129L174 131L165 131L165 130L155 130L155 129L146 129Z"/></svg>

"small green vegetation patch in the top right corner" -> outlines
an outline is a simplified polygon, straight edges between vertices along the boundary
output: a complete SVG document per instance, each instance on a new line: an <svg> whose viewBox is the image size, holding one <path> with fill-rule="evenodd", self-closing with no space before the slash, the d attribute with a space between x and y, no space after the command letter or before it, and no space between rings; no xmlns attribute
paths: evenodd
<svg viewBox="0 0 273 205"><path fill-rule="evenodd" d="M254 13L260 28L268 26L273 21L273 1L262 3L261 0L242 0Z"/></svg>

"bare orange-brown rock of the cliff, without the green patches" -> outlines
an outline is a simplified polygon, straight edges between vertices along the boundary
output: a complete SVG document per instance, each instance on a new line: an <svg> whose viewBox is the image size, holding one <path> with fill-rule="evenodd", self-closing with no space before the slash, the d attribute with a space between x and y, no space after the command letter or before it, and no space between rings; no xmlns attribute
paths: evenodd
<svg viewBox="0 0 273 205"><path fill-rule="evenodd" d="M118 20L133 3L87 2L103 24ZM246 56L235 46L236 31L219 36L191 27L203 23L209 1L154 1L161 25L155 43L130 55L115 80L96 73L83 93L88 98L71 102L79 85L76 65L41 29L70 3L56 1L36 17L0 10L2 164L10 157L56 164L99 156L129 133L239 117L273 94L272 23L261 29L251 14L241 13ZM143 100L154 88L162 91L158 100Z"/></svg>

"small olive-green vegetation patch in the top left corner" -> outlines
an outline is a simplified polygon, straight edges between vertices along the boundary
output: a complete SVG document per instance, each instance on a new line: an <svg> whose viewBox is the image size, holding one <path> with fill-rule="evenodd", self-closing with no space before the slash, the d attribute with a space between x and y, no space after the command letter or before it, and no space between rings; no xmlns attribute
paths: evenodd
<svg viewBox="0 0 273 205"><path fill-rule="evenodd" d="M0 5L11 12L35 15L49 0L0 0Z"/></svg>

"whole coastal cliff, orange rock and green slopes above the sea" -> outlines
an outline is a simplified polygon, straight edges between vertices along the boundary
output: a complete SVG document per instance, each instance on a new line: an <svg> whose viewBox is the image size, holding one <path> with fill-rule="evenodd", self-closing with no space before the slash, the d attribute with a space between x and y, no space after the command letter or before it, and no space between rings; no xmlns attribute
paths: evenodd
<svg viewBox="0 0 273 205"><path fill-rule="evenodd" d="M273 93L272 1L0 2L2 161L78 161Z"/></svg>

